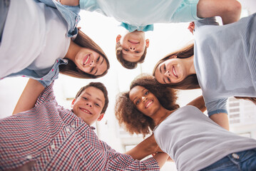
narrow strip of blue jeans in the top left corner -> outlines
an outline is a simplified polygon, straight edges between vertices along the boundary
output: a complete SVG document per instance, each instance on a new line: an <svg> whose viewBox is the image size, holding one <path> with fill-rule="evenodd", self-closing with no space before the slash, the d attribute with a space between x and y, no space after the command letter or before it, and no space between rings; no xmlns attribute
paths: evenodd
<svg viewBox="0 0 256 171"><path fill-rule="evenodd" d="M0 0L0 42L4 31L4 24L8 14L10 0Z"/></svg>

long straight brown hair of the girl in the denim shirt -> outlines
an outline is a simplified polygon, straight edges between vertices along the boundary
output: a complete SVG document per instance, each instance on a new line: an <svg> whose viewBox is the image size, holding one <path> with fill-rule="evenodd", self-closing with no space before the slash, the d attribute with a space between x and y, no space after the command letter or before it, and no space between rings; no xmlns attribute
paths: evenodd
<svg viewBox="0 0 256 171"><path fill-rule="evenodd" d="M60 73L63 73L68 76L76 77L76 78L99 78L99 77L105 76L106 73L108 73L108 69L110 67L108 58L107 58L106 54L103 52L103 50L101 49L101 47L98 46L98 44L96 44L91 38L89 38L85 33L83 33L80 30L78 30L76 39L73 42L83 48L90 48L91 50L96 51L97 53L101 54L101 56L103 56L103 58L106 59L107 69L103 74L101 74L99 76L93 76L91 74L81 71L76 66L76 64L73 63L73 61L68 60L68 64L59 66Z"/></svg>

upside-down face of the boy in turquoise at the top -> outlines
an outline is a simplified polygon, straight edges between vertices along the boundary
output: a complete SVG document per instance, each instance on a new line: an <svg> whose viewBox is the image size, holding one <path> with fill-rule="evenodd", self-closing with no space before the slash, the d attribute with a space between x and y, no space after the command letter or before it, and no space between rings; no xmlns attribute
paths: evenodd
<svg viewBox="0 0 256 171"><path fill-rule="evenodd" d="M143 31L128 32L123 37L118 35L116 41L121 43L123 59L129 62L140 61L145 47L149 46L149 40L145 40L145 33Z"/></svg>

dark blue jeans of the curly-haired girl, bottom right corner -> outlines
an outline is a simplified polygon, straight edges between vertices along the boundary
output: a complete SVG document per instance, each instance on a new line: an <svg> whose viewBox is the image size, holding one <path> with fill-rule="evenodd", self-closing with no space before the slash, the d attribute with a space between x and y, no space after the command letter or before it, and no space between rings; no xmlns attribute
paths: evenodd
<svg viewBox="0 0 256 171"><path fill-rule="evenodd" d="M218 160L201 171L218 170L218 171L253 171L256 170L256 148L235 152Z"/></svg>

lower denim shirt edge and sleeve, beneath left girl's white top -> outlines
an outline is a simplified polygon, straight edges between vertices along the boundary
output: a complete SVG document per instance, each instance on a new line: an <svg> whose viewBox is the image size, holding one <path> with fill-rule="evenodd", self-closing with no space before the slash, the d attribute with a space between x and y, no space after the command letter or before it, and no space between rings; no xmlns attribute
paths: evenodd
<svg viewBox="0 0 256 171"><path fill-rule="evenodd" d="M6 76L6 77L22 76L22 77L33 78L34 80L39 81L44 87L46 87L46 86L49 86L52 81L58 78L58 73L59 73L58 66L62 64L66 65L67 63L68 63L68 59L57 58L51 70L43 77L39 76L39 74L36 73L36 71L30 70L28 68L25 68L24 70L19 71L18 73L11 73L9 76Z"/></svg>

